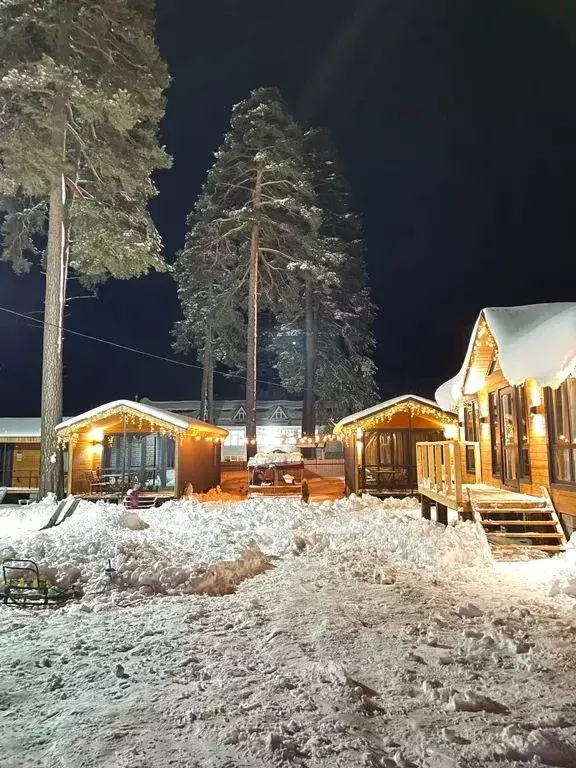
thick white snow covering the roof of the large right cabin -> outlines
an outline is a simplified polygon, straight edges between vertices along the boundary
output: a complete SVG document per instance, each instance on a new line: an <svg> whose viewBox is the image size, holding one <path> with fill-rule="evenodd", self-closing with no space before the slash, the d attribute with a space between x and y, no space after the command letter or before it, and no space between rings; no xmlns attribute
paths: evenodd
<svg viewBox="0 0 576 768"><path fill-rule="evenodd" d="M436 390L436 402L453 410L460 398L474 342L484 318L498 348L502 373L512 385L535 379L541 387L558 387L576 366L576 302L487 307L480 312L464 364Z"/></svg>

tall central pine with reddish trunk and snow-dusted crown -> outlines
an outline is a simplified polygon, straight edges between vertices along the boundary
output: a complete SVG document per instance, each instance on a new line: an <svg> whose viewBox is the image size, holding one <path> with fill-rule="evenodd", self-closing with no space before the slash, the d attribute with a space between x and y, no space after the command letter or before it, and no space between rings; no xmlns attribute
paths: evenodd
<svg viewBox="0 0 576 768"><path fill-rule="evenodd" d="M258 315L294 293L317 257L318 211L302 132L276 89L237 104L205 188L205 221L234 254L237 285L247 284L246 436L256 451Z"/></svg>

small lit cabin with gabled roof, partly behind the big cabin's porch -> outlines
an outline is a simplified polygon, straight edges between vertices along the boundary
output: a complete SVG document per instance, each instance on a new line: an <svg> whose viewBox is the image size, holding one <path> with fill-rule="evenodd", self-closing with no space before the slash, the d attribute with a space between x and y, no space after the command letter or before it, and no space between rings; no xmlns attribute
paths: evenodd
<svg viewBox="0 0 576 768"><path fill-rule="evenodd" d="M407 495L418 487L416 444L441 441L458 419L418 395L392 400L346 416L335 434L344 446L347 493Z"/></svg>

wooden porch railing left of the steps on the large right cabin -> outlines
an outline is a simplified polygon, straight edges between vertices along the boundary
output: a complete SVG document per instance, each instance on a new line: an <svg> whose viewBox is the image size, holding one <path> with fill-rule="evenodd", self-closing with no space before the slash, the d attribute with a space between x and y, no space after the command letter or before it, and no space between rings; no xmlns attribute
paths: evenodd
<svg viewBox="0 0 576 768"><path fill-rule="evenodd" d="M480 443L444 440L437 443L416 444L416 471L418 492L431 491L457 507L463 504L462 473L465 472L466 450L474 450L475 479L482 480Z"/></svg>

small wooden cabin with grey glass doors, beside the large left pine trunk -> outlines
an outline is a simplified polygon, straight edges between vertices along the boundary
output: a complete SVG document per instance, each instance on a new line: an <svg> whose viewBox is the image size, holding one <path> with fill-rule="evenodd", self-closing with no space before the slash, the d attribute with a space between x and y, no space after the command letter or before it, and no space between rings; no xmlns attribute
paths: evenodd
<svg viewBox="0 0 576 768"><path fill-rule="evenodd" d="M145 403L115 400L56 428L68 451L68 493L119 498L130 488L179 496L188 484L206 492L220 483L227 430Z"/></svg>

